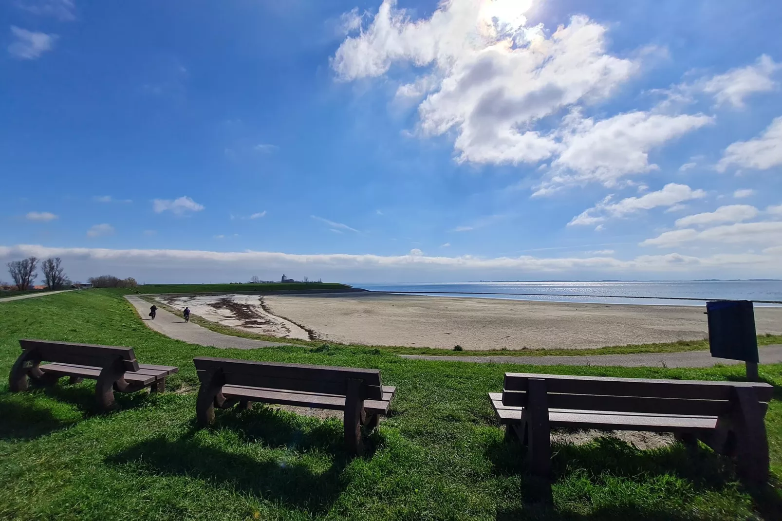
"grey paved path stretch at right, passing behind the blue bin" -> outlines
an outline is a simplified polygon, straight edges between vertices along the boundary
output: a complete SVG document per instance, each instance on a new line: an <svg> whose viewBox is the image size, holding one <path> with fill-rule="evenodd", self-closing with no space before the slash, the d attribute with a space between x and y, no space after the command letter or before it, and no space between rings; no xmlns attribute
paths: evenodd
<svg viewBox="0 0 782 521"><path fill-rule="evenodd" d="M782 345L759 347L761 364L782 362ZM712 358L708 351L686 351L683 353L640 353L640 354L592 354L590 356L567 357L470 357L470 356L426 356L403 354L414 360L469 361L495 364L529 365L621 365L622 367L712 367L712 365L743 364L743 361L726 358Z"/></svg>

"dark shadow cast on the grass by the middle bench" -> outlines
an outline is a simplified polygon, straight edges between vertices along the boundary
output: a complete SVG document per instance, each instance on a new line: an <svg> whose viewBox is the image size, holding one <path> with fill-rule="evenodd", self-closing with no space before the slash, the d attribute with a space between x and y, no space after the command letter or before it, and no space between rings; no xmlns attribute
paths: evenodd
<svg viewBox="0 0 782 521"><path fill-rule="evenodd" d="M305 426L305 423L307 424ZM297 417L285 411L255 405L252 411L222 411L213 427L206 430L218 437L228 429L239 437L240 444L228 442L238 449L223 449L204 443L195 424L176 440L156 437L136 444L117 455L106 458L115 465L142 465L154 474L197 476L218 486L226 485L247 494L279 501L312 514L326 512L348 485L343 470L350 457L343 447L342 425L335 421L317 421ZM367 443L367 453L380 441L373 434ZM285 452L269 453L267 461L242 454L243 444L259 444ZM249 447L253 455L258 452ZM307 452L307 458L300 458ZM315 472L310 463L318 452L331 455L331 465Z"/></svg>

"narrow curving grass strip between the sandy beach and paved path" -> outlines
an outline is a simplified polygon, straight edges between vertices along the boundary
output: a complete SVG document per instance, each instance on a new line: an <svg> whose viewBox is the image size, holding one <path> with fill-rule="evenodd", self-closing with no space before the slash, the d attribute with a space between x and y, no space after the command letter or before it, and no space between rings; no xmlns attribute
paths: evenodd
<svg viewBox="0 0 782 521"><path fill-rule="evenodd" d="M162 307L166 311L176 314L178 317L183 316L182 312L175 307L171 307L165 303L161 303L156 300L154 296L147 296L145 300L154 302L158 307ZM214 332L223 333L224 335L240 336L242 338L249 338L254 340L267 340L270 342L284 342L293 343L300 346L318 347L324 342L323 340L299 340L282 338L271 335L259 335L258 333L245 331L244 329L232 328L229 325L218 324L206 320L206 318L199 317L198 315L190 315L191 322L198 324L206 329L211 329ZM331 345L340 347L368 347L358 344L341 344L329 342ZM771 335L766 333L765 335L758 336L759 346L770 346L774 344L782 343L782 335ZM593 354L638 354L638 353L680 353L683 351L708 351L708 340L678 340L676 342L669 343L639 343L630 344L626 346L608 346L599 347L596 349L487 349L487 350L447 350L438 349L436 347L407 347L407 346L371 346L371 349L380 349L388 353L393 354L418 354L418 355L433 355L433 356L451 356L451 357L496 357L496 356L510 356L510 357L543 357L543 356L573 356L574 354L593 355Z"/></svg>

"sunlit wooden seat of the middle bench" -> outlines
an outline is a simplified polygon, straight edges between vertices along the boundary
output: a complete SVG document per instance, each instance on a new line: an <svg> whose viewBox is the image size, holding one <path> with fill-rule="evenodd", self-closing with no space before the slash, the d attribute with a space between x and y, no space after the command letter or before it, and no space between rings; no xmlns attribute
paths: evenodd
<svg viewBox="0 0 782 521"><path fill-rule="evenodd" d="M386 391L388 390L388 391ZM368 414L385 415L396 391L395 387L384 386L382 400L365 400L364 410ZM295 405L318 409L345 409L345 397L336 394L303 393L299 391L268 389L250 386L223 386L224 397L245 398L249 401L260 401L268 404Z"/></svg>

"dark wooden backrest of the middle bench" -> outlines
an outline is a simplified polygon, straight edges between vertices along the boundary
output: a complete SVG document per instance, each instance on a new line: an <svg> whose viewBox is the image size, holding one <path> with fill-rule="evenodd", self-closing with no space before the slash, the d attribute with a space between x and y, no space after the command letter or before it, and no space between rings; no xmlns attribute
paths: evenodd
<svg viewBox="0 0 782 521"><path fill-rule="evenodd" d="M383 397L378 369L280 364L210 357L193 358L193 363L202 382L211 379L214 372L221 372L227 385L345 396L347 380L358 379L364 381L363 398L382 400Z"/></svg>

